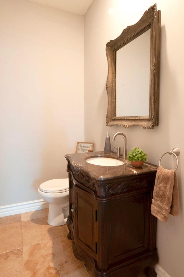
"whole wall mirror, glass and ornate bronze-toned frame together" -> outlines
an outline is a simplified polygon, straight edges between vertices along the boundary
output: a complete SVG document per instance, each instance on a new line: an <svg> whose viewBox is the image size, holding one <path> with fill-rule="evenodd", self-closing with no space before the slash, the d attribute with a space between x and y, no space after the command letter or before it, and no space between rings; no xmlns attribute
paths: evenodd
<svg viewBox="0 0 184 277"><path fill-rule="evenodd" d="M158 126L160 11L151 6L141 19L106 44L107 126Z"/></svg>

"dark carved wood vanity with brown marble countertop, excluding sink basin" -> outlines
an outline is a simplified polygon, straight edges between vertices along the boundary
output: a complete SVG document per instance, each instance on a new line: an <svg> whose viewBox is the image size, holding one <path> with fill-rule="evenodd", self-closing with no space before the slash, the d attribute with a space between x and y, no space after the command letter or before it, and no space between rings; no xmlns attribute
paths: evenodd
<svg viewBox="0 0 184 277"><path fill-rule="evenodd" d="M68 161L73 252L95 276L156 277L156 218L150 213L157 166L134 168L116 153L76 153ZM120 166L96 166L89 157L112 157Z"/></svg>

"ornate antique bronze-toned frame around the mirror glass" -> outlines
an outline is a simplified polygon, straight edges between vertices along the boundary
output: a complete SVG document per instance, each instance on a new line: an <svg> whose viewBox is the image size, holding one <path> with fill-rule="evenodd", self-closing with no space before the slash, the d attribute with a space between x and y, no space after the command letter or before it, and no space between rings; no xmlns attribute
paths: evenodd
<svg viewBox="0 0 184 277"><path fill-rule="evenodd" d="M159 71L160 71L160 10L157 11L156 4L151 6L141 19L134 25L128 26L122 31L120 36L114 40L110 40L106 44L106 55L108 59L108 78L106 82L106 90L108 94L108 111L106 117L107 126L121 125L130 127L139 125L142 128L153 129L158 126L159 112ZM116 116L116 54L119 49L133 41L134 39L150 30L150 90L149 107L147 107L148 115L128 115ZM139 64L141 67L141 64ZM122 76L123 77L123 76ZM133 78L133 77L132 77ZM133 78L132 82L136 82ZM143 82L144 80L142 80ZM128 92L129 93L129 92ZM122 103L131 105L131 103Z"/></svg>

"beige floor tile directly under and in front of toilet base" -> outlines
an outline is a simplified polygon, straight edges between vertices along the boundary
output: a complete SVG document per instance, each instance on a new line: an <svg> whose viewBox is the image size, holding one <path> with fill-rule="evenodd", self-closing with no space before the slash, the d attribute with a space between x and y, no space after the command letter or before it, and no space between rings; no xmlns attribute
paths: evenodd
<svg viewBox="0 0 184 277"><path fill-rule="evenodd" d="M22 222L23 246L33 245L60 236L67 237L67 234L64 225L50 226L47 223L47 217Z"/></svg>

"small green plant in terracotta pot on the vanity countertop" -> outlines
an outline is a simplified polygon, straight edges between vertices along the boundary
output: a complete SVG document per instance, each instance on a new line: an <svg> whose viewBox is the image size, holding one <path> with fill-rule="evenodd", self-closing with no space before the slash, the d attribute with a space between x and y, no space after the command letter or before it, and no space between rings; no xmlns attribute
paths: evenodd
<svg viewBox="0 0 184 277"><path fill-rule="evenodd" d="M147 154L139 147L133 148L127 155L127 160L134 167L141 167L147 161Z"/></svg>

